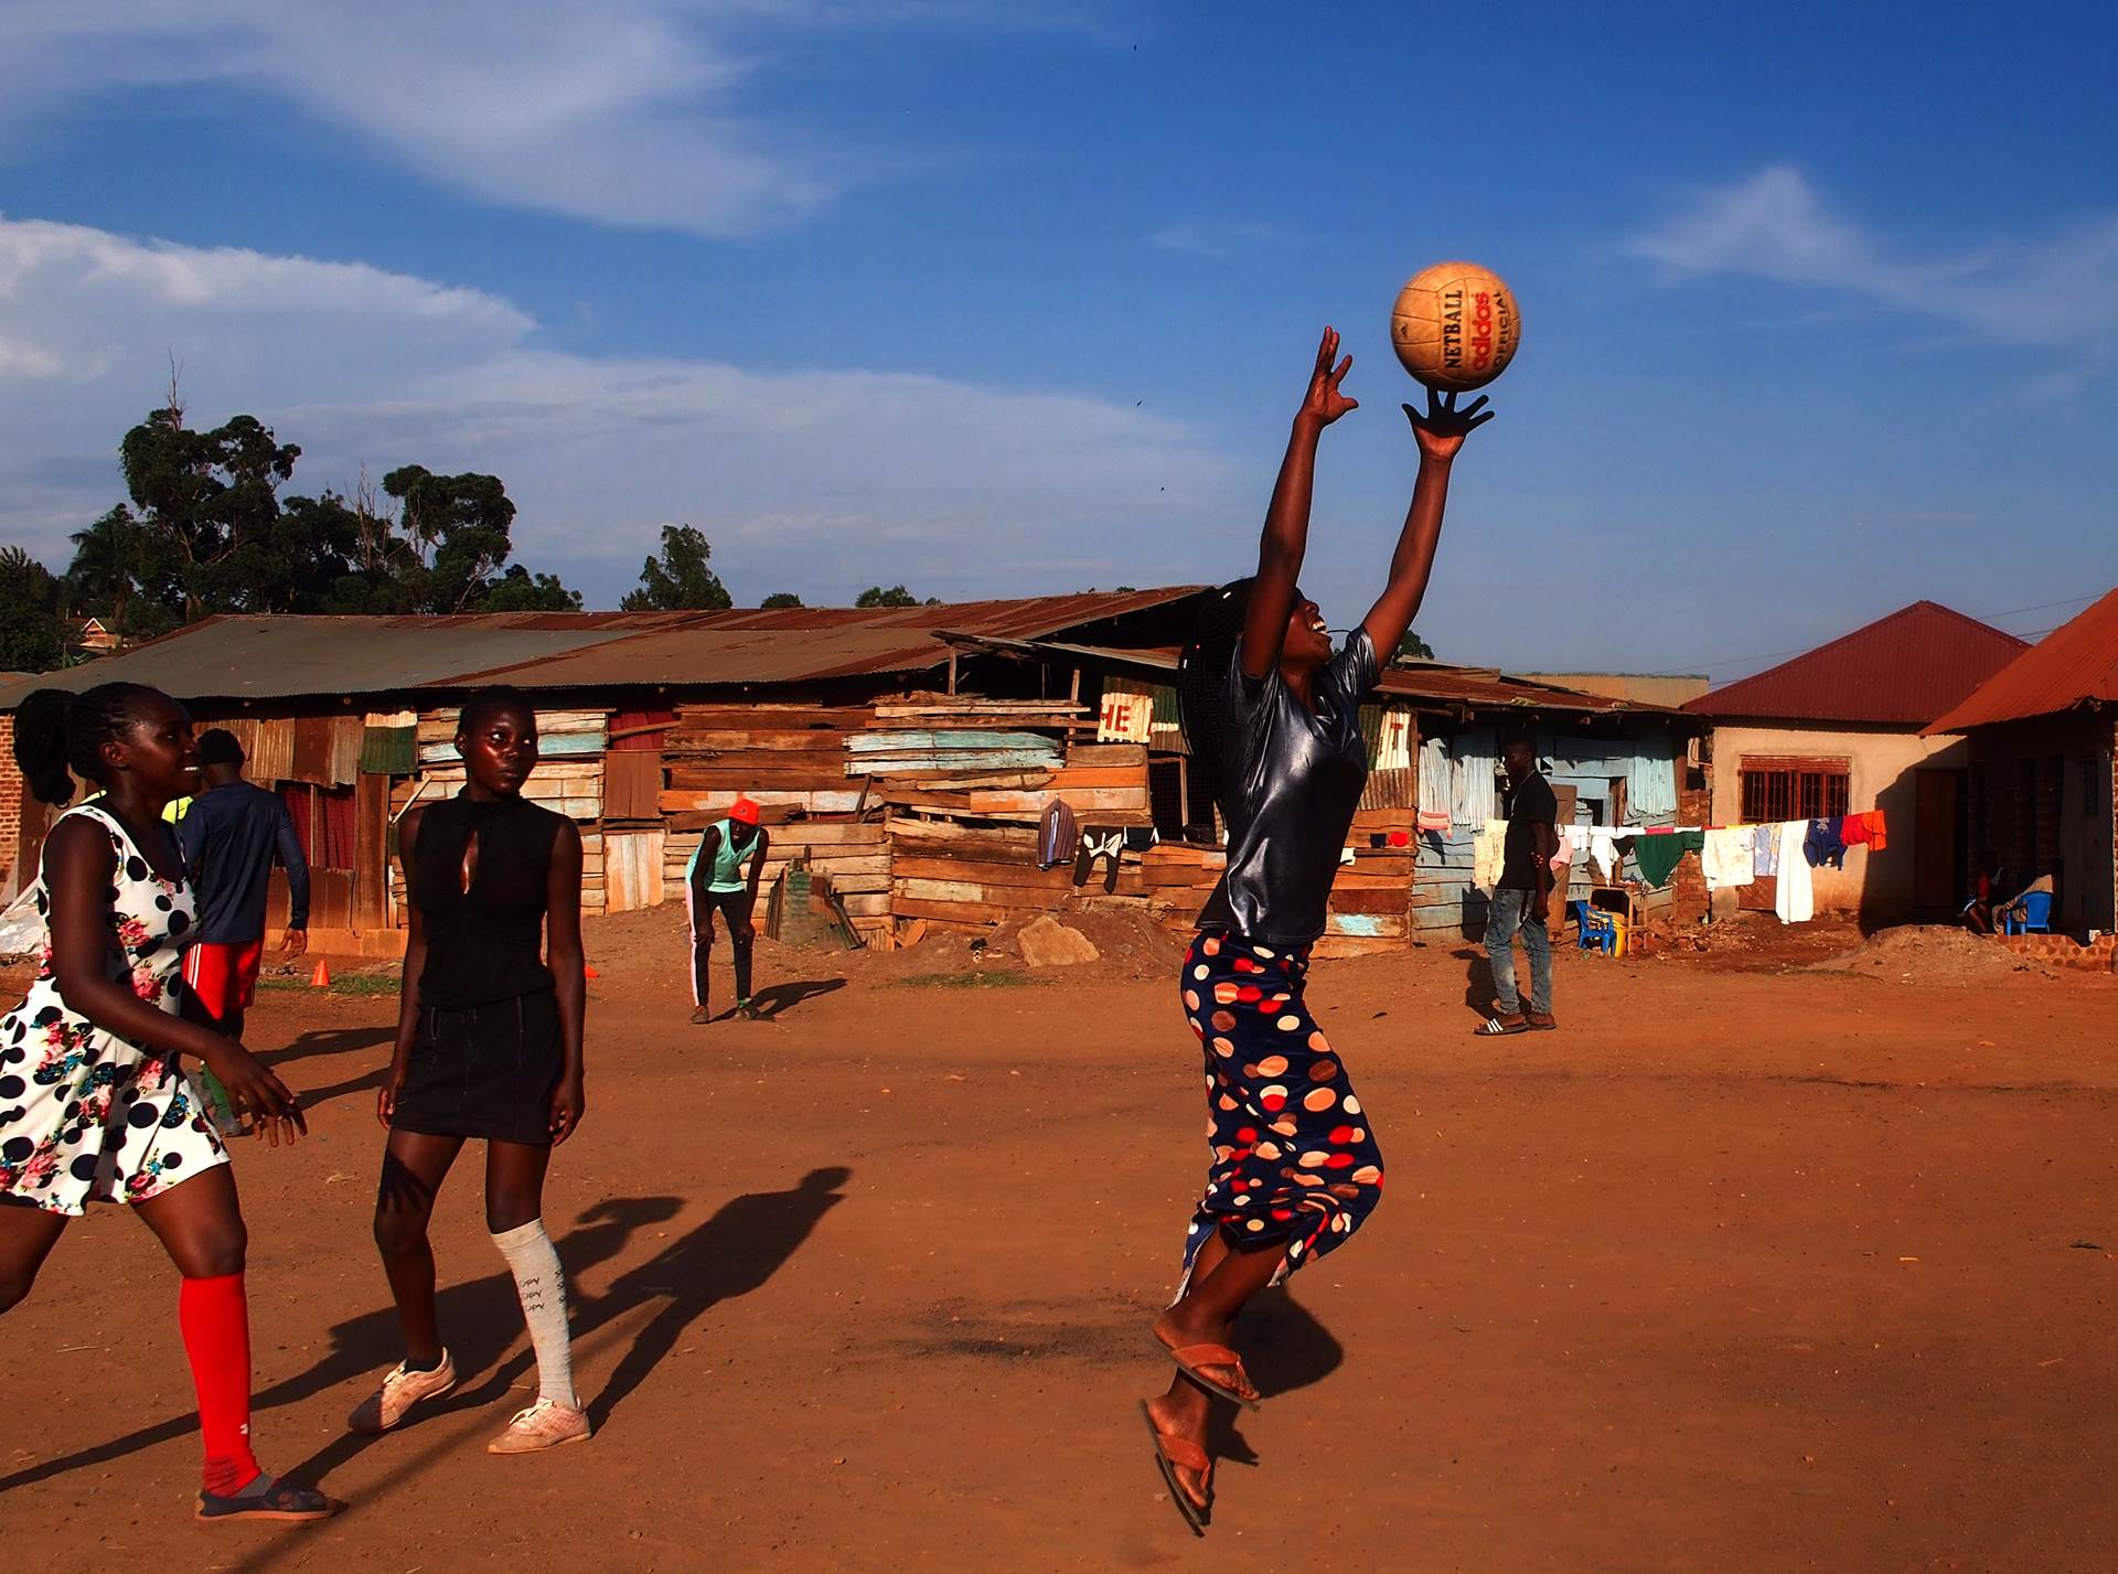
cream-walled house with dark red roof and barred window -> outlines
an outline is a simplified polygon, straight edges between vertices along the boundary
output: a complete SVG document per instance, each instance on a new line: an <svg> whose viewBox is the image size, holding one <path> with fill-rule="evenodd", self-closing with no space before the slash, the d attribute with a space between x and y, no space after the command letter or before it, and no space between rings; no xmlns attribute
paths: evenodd
<svg viewBox="0 0 2118 1574"><path fill-rule="evenodd" d="M1915 602L1684 710L1711 720L1711 822L1819 820L1881 809L1889 849L1849 847L1815 873L1817 911L1864 922L1942 915L1963 900L1970 750L1932 722L2027 646ZM1771 881L1737 888L1771 907Z"/></svg>

